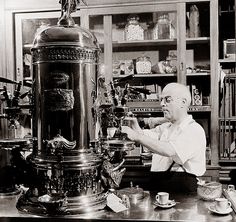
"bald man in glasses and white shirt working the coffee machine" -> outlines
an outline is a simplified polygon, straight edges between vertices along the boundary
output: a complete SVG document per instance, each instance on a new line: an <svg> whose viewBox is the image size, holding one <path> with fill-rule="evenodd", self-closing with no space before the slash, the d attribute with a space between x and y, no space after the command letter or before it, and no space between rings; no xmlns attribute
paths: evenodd
<svg viewBox="0 0 236 222"><path fill-rule="evenodd" d="M166 85L160 95L166 122L142 130L136 118L122 126L128 138L153 153L151 171L156 190L194 192L197 177L206 171L206 136L203 128L188 114L189 89L179 83Z"/></svg>

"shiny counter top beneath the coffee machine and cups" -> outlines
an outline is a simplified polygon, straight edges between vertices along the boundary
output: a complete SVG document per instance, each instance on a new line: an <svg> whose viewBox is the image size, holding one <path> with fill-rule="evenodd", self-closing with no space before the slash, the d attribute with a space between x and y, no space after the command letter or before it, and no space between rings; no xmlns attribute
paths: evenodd
<svg viewBox="0 0 236 222"><path fill-rule="evenodd" d="M114 213L109 209L101 211L73 215L73 216L35 216L23 214L16 209L16 202L19 196L0 197L0 221L236 221L235 212L228 215L217 215L208 210L214 204L211 201L201 200L197 194L170 194L170 199L176 201L176 205L169 209L156 207L153 203L156 192L145 192L146 197L134 204L129 210ZM150 195L149 195L150 194Z"/></svg>

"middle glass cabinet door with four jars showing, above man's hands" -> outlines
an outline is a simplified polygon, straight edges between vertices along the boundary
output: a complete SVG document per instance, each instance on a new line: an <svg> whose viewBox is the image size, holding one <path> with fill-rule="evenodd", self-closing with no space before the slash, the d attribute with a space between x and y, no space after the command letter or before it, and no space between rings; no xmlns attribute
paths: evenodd
<svg viewBox="0 0 236 222"><path fill-rule="evenodd" d="M160 111L161 89L168 82L178 81L177 26L174 4L159 11L112 15L113 78L134 75L128 84L151 92L131 94L127 103L131 111Z"/></svg>

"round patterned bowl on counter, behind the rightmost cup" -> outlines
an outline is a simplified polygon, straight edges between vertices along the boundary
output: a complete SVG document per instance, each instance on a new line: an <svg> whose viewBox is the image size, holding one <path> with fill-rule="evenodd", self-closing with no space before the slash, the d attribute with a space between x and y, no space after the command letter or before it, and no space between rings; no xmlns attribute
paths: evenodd
<svg viewBox="0 0 236 222"><path fill-rule="evenodd" d="M215 200L222 195L222 184L215 181L198 184L197 193L203 200Z"/></svg>

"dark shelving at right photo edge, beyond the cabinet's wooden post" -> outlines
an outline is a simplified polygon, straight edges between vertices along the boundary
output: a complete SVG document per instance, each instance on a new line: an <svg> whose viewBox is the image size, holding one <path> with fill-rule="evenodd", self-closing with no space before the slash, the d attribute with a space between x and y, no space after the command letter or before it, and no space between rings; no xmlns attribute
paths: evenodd
<svg viewBox="0 0 236 222"><path fill-rule="evenodd" d="M227 56L227 52L224 50L224 42L236 38L235 5L235 0L219 0L219 66L223 71L221 73L221 87L219 88L219 164L221 167L219 179L221 182L233 184L235 184L234 175L236 171L234 155L236 140L236 56Z"/></svg>

